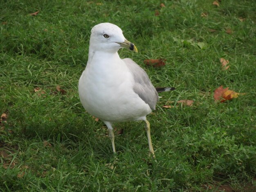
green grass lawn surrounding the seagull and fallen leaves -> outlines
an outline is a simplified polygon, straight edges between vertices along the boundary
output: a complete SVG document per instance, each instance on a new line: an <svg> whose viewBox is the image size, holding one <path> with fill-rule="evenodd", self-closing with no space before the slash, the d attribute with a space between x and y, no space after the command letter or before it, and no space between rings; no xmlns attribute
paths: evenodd
<svg viewBox="0 0 256 192"><path fill-rule="evenodd" d="M256 190L256 4L212 2L1 1L0 113L8 117L0 126L0 190ZM148 115L156 159L142 122L119 123L113 170L105 166L114 160L107 128L85 113L77 89L90 29L101 22L121 27L137 46L138 54L121 50L121 58L135 60L155 86L176 87ZM146 67L148 58L165 58L166 66ZM246 94L216 103L220 85ZM176 105L181 99L195 102Z"/></svg>

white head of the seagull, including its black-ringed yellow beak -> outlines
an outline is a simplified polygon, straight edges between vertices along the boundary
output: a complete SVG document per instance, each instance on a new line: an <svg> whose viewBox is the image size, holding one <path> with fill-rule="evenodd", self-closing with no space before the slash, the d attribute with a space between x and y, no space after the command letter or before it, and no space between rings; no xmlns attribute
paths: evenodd
<svg viewBox="0 0 256 192"><path fill-rule="evenodd" d="M121 48L128 48L137 52L137 48L126 40L123 31L112 23L100 23L91 30L90 51L104 51L115 53Z"/></svg>

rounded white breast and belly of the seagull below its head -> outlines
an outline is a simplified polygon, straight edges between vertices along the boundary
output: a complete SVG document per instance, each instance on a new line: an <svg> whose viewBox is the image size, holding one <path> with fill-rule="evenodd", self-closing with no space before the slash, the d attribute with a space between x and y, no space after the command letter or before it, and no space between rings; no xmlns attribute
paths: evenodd
<svg viewBox="0 0 256 192"><path fill-rule="evenodd" d="M143 119L151 112L133 91L133 76L118 53L95 52L79 79L79 97L85 110L102 121Z"/></svg>

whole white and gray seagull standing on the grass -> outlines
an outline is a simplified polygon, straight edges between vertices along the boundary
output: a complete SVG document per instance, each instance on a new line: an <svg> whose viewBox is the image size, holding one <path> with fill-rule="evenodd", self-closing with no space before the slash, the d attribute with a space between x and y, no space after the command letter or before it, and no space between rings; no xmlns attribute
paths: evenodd
<svg viewBox="0 0 256 192"><path fill-rule="evenodd" d="M150 154L155 157L146 116L155 110L157 92L172 87L155 88L146 72L132 59L121 59L121 48L137 52L135 45L111 23L100 23L91 30L88 62L79 79L79 98L85 110L108 127L114 154L113 123L145 121Z"/></svg>

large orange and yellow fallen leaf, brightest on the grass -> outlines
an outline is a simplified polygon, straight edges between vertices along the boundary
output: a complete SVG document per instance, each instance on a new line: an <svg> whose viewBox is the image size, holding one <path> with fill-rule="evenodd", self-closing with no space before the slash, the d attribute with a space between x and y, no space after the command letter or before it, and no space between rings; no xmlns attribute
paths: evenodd
<svg viewBox="0 0 256 192"><path fill-rule="evenodd" d="M231 100L233 98L237 98L238 95L244 95L245 93L237 93L232 90L229 90L229 87L223 89L223 86L221 85L217 89L215 89L213 97L214 100L220 100L221 103L225 102L226 100Z"/></svg>

